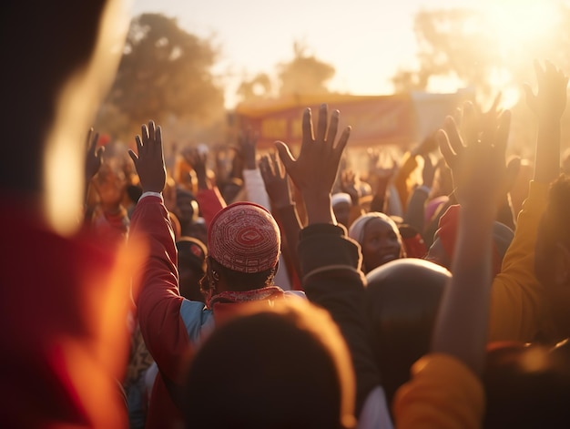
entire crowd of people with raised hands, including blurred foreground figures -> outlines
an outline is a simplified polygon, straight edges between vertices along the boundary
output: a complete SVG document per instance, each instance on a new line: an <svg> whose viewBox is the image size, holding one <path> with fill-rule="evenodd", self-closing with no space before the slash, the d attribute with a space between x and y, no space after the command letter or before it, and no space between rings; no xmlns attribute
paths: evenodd
<svg viewBox="0 0 570 429"><path fill-rule="evenodd" d="M534 64L533 159L474 102L365 171L326 105L300 148L244 129L226 158L166 159L152 120L128 152L78 138L126 27L120 1L58 3L2 18L27 46L0 158L3 425L567 426L565 72Z"/></svg>

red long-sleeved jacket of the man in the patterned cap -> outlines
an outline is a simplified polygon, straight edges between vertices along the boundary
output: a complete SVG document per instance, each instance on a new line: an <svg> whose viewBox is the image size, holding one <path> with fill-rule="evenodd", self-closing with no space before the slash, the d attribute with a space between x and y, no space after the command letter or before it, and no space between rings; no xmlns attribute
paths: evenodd
<svg viewBox="0 0 570 429"><path fill-rule="evenodd" d="M131 238L146 236L149 243L148 260L140 267L137 297L140 330L159 369L150 396L147 427L174 427L183 423L182 414L170 396L165 377L170 387L183 385L193 346L213 329L214 317L217 322L226 320L239 306L218 302L212 312L201 302L179 295L176 245L167 209L158 197L139 199L130 233ZM279 290L270 298L282 293Z"/></svg>

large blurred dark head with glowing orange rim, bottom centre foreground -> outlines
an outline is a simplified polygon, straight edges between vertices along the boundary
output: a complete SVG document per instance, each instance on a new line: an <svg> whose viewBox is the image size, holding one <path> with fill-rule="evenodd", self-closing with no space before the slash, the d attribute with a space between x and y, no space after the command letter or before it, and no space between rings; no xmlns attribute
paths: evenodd
<svg viewBox="0 0 570 429"><path fill-rule="evenodd" d="M300 299L250 306L219 326L191 363L187 427L351 427L353 376L327 312Z"/></svg>

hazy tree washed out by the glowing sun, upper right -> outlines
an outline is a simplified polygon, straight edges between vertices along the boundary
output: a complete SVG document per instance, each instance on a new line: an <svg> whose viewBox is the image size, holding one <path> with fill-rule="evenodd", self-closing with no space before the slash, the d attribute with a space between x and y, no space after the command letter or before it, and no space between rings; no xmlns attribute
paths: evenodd
<svg viewBox="0 0 570 429"><path fill-rule="evenodd" d="M538 3L538 2L537 2ZM392 83L397 91L427 90L434 78L453 77L463 87L476 87L483 97L497 88L520 85L534 78L534 58L570 65L570 7L556 5L544 22L538 7L516 4L498 19L491 12L472 9L422 10L415 15L418 66L398 70Z"/></svg>

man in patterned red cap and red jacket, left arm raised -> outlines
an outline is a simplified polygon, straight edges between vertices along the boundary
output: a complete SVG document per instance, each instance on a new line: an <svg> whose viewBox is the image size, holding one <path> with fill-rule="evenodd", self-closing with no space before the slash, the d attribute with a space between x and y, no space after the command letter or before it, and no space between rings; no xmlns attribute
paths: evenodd
<svg viewBox="0 0 570 429"><path fill-rule="evenodd" d="M147 427L182 424L184 369L215 324L235 313L239 302L271 301L292 292L273 285L280 256L280 230L267 209L238 202L219 211L209 225L206 304L178 291L177 250L162 199L166 182L160 128L150 122L137 136L135 162L143 195L131 220L131 237L146 236L150 256L137 272L137 312L148 351L158 364Z"/></svg>

